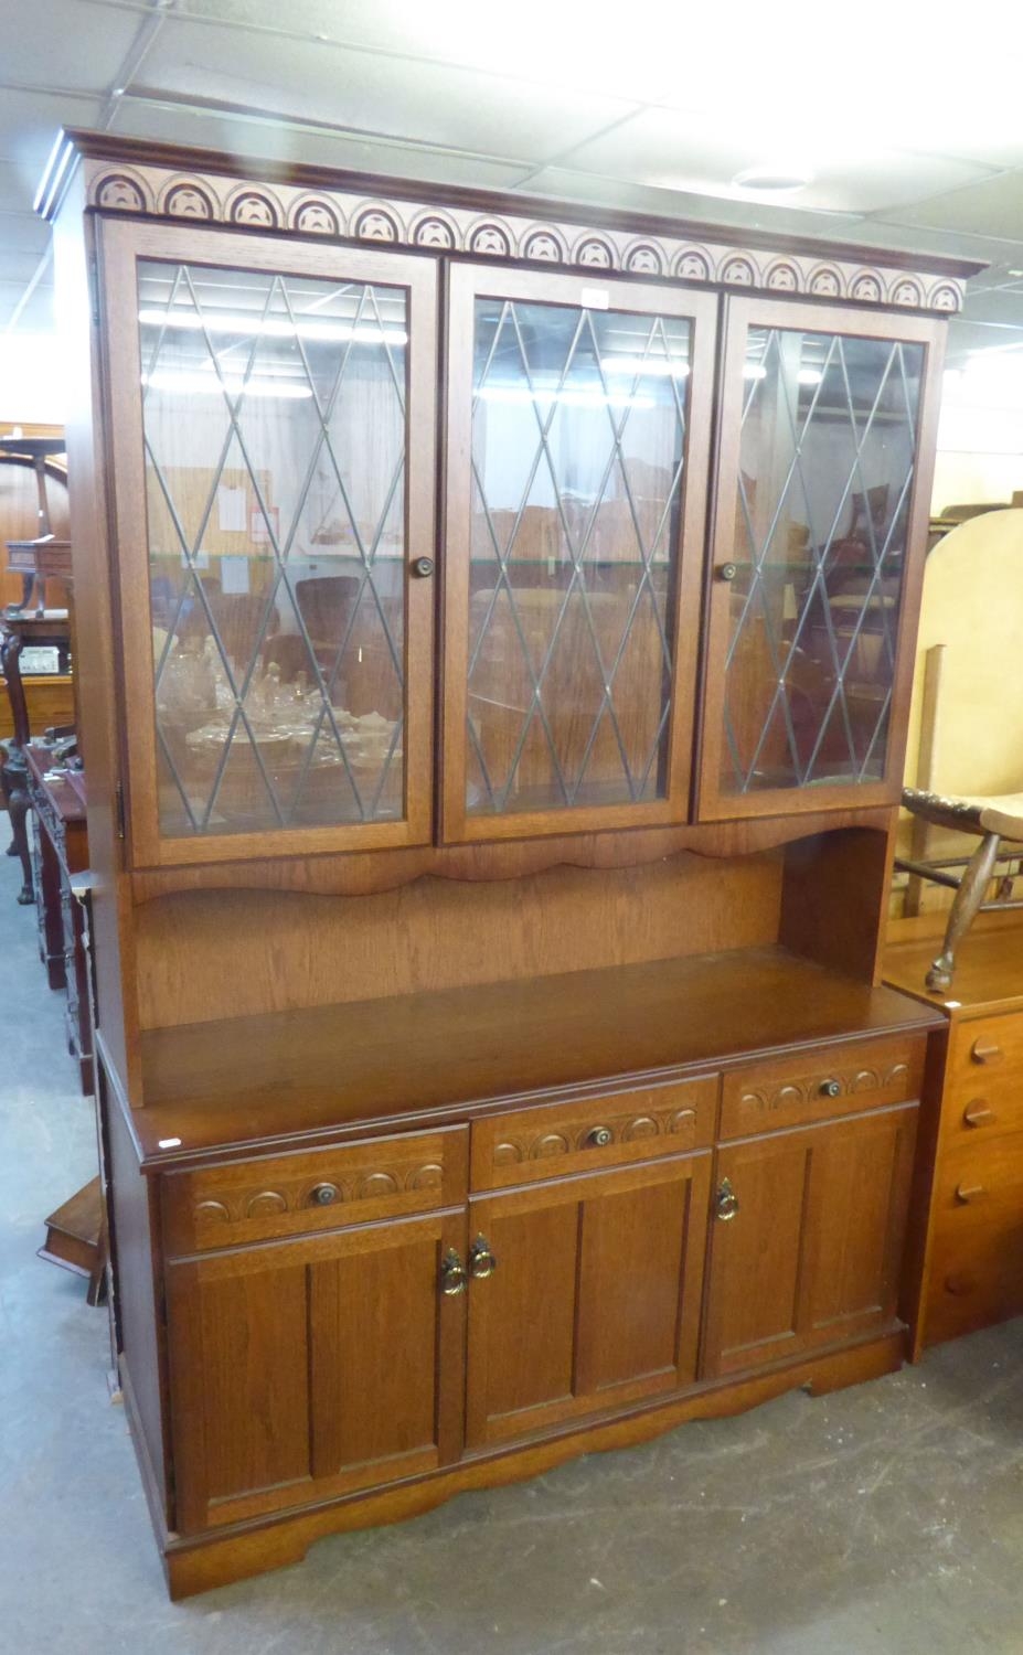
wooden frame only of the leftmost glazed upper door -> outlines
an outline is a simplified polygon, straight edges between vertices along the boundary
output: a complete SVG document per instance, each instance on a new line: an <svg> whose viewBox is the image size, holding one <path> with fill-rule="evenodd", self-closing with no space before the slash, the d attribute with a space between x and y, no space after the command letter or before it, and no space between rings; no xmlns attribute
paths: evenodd
<svg viewBox="0 0 1023 1655"><path fill-rule="evenodd" d="M108 453L114 540L116 624L121 634L127 763L127 836L134 867L167 867L376 851L430 842L434 581L409 579L415 558L434 556L437 427L437 265L417 253L311 245L288 237L253 237L220 228L99 218L103 333L108 359ZM406 814L389 823L326 828L270 828L263 832L166 836L159 826L156 685L147 581L147 495L141 417L141 348L136 326L137 260L166 260L222 270L257 270L404 288L409 306L406 392Z"/></svg>

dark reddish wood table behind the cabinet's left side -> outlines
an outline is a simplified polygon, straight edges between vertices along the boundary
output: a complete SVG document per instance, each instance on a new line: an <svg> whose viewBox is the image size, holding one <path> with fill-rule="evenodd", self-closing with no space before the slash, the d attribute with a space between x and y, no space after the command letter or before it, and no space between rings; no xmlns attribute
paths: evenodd
<svg viewBox="0 0 1023 1655"><path fill-rule="evenodd" d="M40 741L25 746L26 791L31 804L31 872L40 927L40 957L51 988L68 995L68 1051L93 1091L93 1031L89 1016L89 958L84 912L71 879L89 866L84 776L53 770L53 751Z"/></svg>

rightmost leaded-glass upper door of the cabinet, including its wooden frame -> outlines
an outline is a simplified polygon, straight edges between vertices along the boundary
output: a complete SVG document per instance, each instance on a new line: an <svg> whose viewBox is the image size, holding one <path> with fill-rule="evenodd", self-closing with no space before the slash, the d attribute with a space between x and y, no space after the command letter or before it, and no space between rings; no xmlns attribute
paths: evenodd
<svg viewBox="0 0 1023 1655"><path fill-rule="evenodd" d="M702 821L899 798L942 339L728 301Z"/></svg>

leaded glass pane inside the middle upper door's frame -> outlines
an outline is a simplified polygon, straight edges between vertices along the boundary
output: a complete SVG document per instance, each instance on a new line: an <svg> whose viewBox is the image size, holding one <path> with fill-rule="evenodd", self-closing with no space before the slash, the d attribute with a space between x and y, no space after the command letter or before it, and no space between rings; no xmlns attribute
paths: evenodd
<svg viewBox="0 0 1023 1655"><path fill-rule="evenodd" d="M667 791L690 323L480 298L470 814Z"/></svg>

